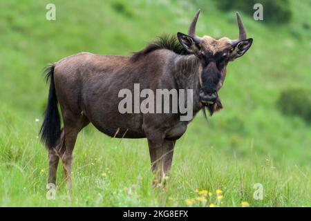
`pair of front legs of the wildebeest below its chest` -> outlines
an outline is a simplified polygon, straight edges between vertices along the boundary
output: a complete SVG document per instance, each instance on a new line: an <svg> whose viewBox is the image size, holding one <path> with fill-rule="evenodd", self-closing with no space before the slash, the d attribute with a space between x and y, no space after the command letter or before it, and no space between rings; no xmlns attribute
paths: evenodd
<svg viewBox="0 0 311 221"><path fill-rule="evenodd" d="M173 160L173 148L175 140L162 140L154 142L148 139L149 153L151 158L151 169L156 174L153 185L156 186L159 182L163 183L166 175L171 169Z"/></svg>

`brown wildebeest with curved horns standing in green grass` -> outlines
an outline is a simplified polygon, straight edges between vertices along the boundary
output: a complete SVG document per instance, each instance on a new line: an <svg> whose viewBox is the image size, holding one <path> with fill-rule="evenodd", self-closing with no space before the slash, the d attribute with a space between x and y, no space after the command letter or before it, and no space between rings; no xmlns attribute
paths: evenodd
<svg viewBox="0 0 311 221"><path fill-rule="evenodd" d="M189 26L188 35L162 37L132 56L94 55L82 52L55 62L47 68L50 78L48 106L41 126L41 140L48 147L48 182L56 182L62 159L68 189L77 134L88 123L111 137L147 137L152 171L160 177L169 172L176 140L189 121L180 113L124 113L118 111L122 88L192 89L194 115L203 107L210 114L222 108L218 90L223 86L229 61L241 57L252 45L237 15L239 37L214 39L195 34L200 10ZM62 111L61 128L57 103Z"/></svg>

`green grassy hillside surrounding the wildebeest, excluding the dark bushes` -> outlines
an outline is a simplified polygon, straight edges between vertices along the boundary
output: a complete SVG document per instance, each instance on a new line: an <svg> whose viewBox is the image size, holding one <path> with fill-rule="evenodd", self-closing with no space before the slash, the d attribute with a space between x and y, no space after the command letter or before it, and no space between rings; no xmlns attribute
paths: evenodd
<svg viewBox="0 0 311 221"><path fill-rule="evenodd" d="M162 33L187 32L198 8L198 35L237 37L233 11L194 2L55 0L57 19L47 21L50 1L0 1L0 206L311 206L310 122L276 106L282 90L311 85L310 29L301 28L310 1L290 1L292 21L281 26L241 13L254 44L227 68L223 111L208 123L198 114L178 140L166 189L151 187L146 140L111 139L88 126L75 146L73 200L62 165L57 198L46 200L44 66L81 51L130 55ZM256 183L263 200L253 198ZM206 202L196 190L211 193Z"/></svg>

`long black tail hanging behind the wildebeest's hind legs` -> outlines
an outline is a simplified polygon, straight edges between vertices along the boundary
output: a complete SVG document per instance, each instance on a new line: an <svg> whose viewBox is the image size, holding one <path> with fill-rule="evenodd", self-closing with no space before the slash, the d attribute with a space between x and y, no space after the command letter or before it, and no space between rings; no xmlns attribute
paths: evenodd
<svg viewBox="0 0 311 221"><path fill-rule="evenodd" d="M46 106L46 111L44 111L44 122L41 126L40 134L41 141L48 148L53 148L61 133L61 122L54 84L54 65L47 66L44 72L46 73L46 81L50 79L50 89L48 91L48 106Z"/></svg>

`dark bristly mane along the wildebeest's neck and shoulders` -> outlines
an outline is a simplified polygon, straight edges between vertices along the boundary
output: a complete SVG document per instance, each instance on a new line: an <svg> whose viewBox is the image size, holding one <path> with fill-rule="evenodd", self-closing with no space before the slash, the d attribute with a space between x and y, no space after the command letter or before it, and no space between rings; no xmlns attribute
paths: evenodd
<svg viewBox="0 0 311 221"><path fill-rule="evenodd" d="M182 45L179 43L178 39L174 35L162 35L158 37L157 41L151 41L146 48L134 52L131 60L137 61L144 55L147 55L149 52L153 52L154 50L158 49L167 49L171 50L173 52L176 52L178 55L189 55L190 53L185 50L185 48L182 47Z"/></svg>

